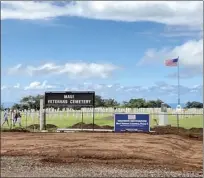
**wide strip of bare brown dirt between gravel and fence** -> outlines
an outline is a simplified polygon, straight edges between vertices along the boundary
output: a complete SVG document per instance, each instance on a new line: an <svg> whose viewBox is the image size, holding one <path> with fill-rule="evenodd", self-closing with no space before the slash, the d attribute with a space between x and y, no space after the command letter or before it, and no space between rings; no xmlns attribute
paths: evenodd
<svg viewBox="0 0 204 178"><path fill-rule="evenodd" d="M1 156L43 164L94 163L134 168L202 170L202 141L142 133L1 133Z"/></svg>

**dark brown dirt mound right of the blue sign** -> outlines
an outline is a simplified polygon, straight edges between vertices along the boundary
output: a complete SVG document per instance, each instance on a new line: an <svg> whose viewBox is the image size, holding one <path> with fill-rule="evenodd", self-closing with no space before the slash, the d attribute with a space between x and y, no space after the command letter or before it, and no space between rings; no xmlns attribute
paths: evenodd
<svg viewBox="0 0 204 178"><path fill-rule="evenodd" d="M155 135L164 135L164 134L176 134L183 137L194 138L197 140L203 140L203 129L202 128L177 128L171 126L157 126L151 128L152 131L155 131L151 134Z"/></svg>

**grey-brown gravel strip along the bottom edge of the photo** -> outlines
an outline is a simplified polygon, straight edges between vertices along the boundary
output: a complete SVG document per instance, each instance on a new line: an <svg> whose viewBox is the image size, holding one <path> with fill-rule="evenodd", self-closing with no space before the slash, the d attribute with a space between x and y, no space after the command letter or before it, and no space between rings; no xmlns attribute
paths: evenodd
<svg viewBox="0 0 204 178"><path fill-rule="evenodd" d="M1 157L1 177L203 177L203 174L91 163L45 164L38 158Z"/></svg>

